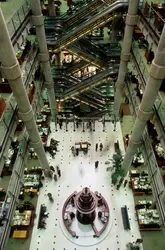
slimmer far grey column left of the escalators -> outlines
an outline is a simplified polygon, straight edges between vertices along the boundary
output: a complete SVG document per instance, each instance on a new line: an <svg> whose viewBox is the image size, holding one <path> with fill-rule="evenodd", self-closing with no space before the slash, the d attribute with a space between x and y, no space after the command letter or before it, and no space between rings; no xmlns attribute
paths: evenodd
<svg viewBox="0 0 165 250"><path fill-rule="evenodd" d="M40 0L35 0L35 1L31 0L31 8L33 14L32 16L33 24L36 26L36 33L40 49L39 57L43 68L45 87L48 89L48 97L52 113L52 120L55 122L56 126L57 104L54 93L54 83L51 73L51 66L49 62L49 53L48 53L45 30L44 30L44 18L41 13Z"/></svg>

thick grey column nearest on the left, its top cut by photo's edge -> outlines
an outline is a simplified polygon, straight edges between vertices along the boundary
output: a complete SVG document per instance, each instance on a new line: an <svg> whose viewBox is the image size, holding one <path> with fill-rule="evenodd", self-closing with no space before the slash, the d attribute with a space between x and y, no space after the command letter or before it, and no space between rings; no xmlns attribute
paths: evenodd
<svg viewBox="0 0 165 250"><path fill-rule="evenodd" d="M1 72L5 79L9 81L10 87L18 104L19 116L24 122L31 140L31 147L34 148L38 159L45 173L49 171L49 163L45 155L42 141L34 119L32 107L30 105L24 83L21 77L21 70L15 56L9 32L0 9L0 60Z"/></svg>

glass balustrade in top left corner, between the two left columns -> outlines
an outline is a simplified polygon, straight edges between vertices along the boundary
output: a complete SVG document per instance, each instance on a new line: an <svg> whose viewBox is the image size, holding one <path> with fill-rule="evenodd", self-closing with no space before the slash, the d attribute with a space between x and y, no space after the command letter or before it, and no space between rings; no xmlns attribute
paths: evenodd
<svg viewBox="0 0 165 250"><path fill-rule="evenodd" d="M22 24L29 11L30 11L30 0L26 0L26 2L16 12L14 12L14 14L11 17L9 17L9 19L6 21L10 37L12 37L14 33L17 31L17 29Z"/></svg>

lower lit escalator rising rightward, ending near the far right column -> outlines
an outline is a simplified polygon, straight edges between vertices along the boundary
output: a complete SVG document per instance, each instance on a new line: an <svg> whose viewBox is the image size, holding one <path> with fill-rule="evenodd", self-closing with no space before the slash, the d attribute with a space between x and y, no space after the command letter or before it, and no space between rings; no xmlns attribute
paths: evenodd
<svg viewBox="0 0 165 250"><path fill-rule="evenodd" d="M83 93L94 86L98 86L104 82L106 82L109 79L114 79L116 77L116 74L118 73L118 67L110 67L104 71L98 72L96 75L89 77L81 83L72 86L68 90L64 92L64 95L62 97L62 101L65 101L67 99L70 99L76 95L79 95L80 93Z"/></svg>

